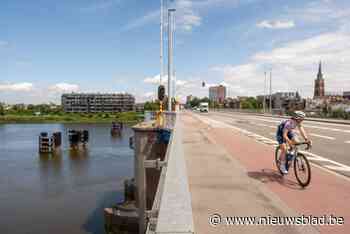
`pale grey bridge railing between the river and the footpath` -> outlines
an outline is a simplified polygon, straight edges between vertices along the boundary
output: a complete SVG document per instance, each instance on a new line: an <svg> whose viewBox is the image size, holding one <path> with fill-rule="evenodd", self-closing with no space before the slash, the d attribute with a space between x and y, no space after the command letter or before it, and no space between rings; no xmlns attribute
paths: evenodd
<svg viewBox="0 0 350 234"><path fill-rule="evenodd" d="M191 195L182 145L182 125L178 116L167 114L173 131L167 148L153 202L147 234L194 233Z"/></svg>

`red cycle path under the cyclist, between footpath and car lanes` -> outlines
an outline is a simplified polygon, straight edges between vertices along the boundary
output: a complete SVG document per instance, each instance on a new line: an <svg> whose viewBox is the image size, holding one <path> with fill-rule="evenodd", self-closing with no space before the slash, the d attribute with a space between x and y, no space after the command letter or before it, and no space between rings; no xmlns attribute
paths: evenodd
<svg viewBox="0 0 350 234"><path fill-rule="evenodd" d="M300 215L344 217L341 226L318 226L321 233L350 233L350 181L311 166L311 184L302 189L294 172L281 177L274 164L274 148L258 143L232 129L207 132L218 145L246 167L247 175L260 180Z"/></svg>

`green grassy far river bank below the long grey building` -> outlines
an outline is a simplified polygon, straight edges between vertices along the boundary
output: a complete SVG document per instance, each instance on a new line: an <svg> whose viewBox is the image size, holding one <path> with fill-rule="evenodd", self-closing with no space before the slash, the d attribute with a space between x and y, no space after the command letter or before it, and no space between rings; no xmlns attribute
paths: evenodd
<svg viewBox="0 0 350 234"><path fill-rule="evenodd" d="M137 123L143 120L143 114L138 112L98 113L98 114L6 114L0 115L0 124L6 123Z"/></svg>

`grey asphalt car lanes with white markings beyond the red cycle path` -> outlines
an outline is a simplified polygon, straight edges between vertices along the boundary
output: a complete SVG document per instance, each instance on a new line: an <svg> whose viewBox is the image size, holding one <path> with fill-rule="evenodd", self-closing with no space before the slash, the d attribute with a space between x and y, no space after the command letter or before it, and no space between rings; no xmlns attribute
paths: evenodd
<svg viewBox="0 0 350 234"><path fill-rule="evenodd" d="M271 145L276 144L277 125L282 121L282 118L242 113L210 112L200 115L242 129L243 132L254 133L255 137L265 138L263 142ZM350 125L305 121L304 128L313 141L312 150L304 152L309 160L322 168L350 177Z"/></svg>

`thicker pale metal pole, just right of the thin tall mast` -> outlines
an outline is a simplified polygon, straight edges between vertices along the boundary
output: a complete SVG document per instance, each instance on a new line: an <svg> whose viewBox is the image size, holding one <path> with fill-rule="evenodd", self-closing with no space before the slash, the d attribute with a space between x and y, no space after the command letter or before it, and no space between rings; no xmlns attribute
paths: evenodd
<svg viewBox="0 0 350 234"><path fill-rule="evenodd" d="M173 12L175 9L168 10L168 111L171 111L171 76L173 74Z"/></svg>

